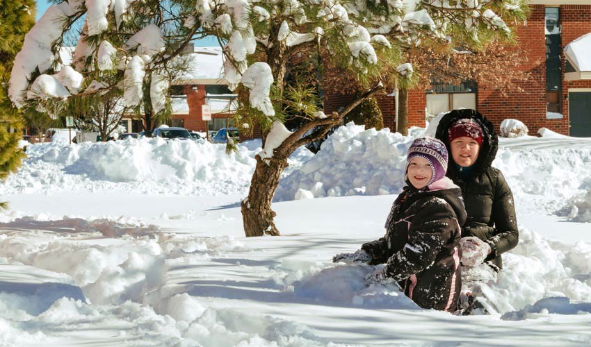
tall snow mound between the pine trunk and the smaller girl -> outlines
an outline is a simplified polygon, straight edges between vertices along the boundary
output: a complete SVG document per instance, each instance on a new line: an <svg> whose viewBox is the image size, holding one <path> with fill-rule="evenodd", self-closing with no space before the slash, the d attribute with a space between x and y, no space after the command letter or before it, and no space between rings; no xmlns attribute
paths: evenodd
<svg viewBox="0 0 591 347"><path fill-rule="evenodd" d="M275 200L293 200L296 194L301 198L302 191L316 198L397 193L404 186L405 155L412 139L388 128L341 126L314 158L280 182Z"/></svg>

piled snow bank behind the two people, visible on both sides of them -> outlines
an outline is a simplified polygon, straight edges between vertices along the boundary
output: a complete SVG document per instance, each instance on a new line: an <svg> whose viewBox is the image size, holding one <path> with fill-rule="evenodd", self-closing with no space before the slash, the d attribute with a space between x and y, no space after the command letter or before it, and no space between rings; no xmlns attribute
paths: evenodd
<svg viewBox="0 0 591 347"><path fill-rule="evenodd" d="M412 140L422 135L418 130L402 136L388 129L365 130L353 123L342 126L314 158L280 181L275 200L297 200L304 194L315 198L396 194L405 185L407 150ZM581 178L591 172L591 147L501 148L492 165L503 172L514 195L567 199L581 192Z"/></svg>

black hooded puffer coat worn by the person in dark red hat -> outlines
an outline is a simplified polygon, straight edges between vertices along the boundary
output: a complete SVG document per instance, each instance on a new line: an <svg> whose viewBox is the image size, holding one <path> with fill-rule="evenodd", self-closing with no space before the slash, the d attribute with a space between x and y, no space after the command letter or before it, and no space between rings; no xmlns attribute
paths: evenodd
<svg viewBox="0 0 591 347"><path fill-rule="evenodd" d="M439 121L435 137L446 144L451 158L448 130L451 124L462 118L474 119L485 133L471 177L462 180L453 159L448 165L447 176L462 189L468 213L468 221L462 228L462 237L476 236L487 242L492 252L485 261L502 269L501 254L517 246L519 230L511 189L501 171L491 166L499 144L494 126L475 110L453 110Z"/></svg>

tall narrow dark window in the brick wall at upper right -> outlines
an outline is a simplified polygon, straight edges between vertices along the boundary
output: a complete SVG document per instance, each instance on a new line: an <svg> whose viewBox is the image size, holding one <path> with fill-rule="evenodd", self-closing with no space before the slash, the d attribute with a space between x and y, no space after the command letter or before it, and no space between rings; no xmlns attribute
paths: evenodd
<svg viewBox="0 0 591 347"><path fill-rule="evenodd" d="M560 8L546 8L546 105L548 112L560 113L560 91L562 73L560 71Z"/></svg>

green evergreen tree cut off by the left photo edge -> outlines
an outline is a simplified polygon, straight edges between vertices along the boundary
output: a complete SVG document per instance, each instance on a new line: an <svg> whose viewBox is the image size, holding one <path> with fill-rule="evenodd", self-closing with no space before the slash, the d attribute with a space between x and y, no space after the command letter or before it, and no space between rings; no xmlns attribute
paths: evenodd
<svg viewBox="0 0 591 347"><path fill-rule="evenodd" d="M24 35L35 24L35 1L0 0L0 179L20 166L21 115L7 96L8 78ZM12 130L12 133L10 132ZM5 208L6 203L0 203Z"/></svg>

